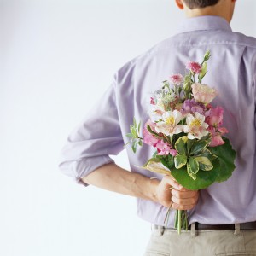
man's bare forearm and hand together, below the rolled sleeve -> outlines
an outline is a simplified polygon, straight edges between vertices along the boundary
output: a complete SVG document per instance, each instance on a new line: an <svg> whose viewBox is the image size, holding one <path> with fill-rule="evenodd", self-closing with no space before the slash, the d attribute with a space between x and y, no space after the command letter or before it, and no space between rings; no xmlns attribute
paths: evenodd
<svg viewBox="0 0 256 256"><path fill-rule="evenodd" d="M195 207L198 200L197 191L184 189L172 177L166 176L161 181L150 179L114 163L97 168L82 180L101 189L155 201L164 207L170 207L173 202L172 208L179 210Z"/></svg>

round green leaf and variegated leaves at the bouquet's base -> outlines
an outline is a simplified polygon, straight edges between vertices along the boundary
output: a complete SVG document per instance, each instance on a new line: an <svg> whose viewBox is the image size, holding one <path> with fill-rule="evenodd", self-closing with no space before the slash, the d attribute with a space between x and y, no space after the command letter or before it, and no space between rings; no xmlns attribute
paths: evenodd
<svg viewBox="0 0 256 256"><path fill-rule="evenodd" d="M187 189L205 189L214 182L227 180L235 169L236 151L224 138L224 145L210 148L210 137L189 140L180 137L175 143L178 154L156 155L171 170L172 176Z"/></svg>

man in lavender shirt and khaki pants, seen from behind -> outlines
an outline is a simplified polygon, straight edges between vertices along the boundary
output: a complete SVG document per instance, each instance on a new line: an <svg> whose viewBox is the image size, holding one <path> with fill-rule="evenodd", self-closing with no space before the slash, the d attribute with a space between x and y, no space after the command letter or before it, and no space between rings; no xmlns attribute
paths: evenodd
<svg viewBox="0 0 256 256"><path fill-rule="evenodd" d="M119 69L95 113L68 138L60 167L84 185L137 197L139 217L154 224L145 255L256 255L256 39L231 31L235 0L176 3L187 15L177 34ZM150 179L154 173L135 167L154 153L148 146L137 154L128 148L131 172L116 166L108 154L123 149L134 116L147 121L148 93L170 73L183 73L186 61L201 61L208 49L204 81L218 90L213 103L224 108L227 137L237 151L232 177L200 192L171 177ZM175 211L163 228L171 203L189 210L189 230L180 236L173 230Z"/></svg>

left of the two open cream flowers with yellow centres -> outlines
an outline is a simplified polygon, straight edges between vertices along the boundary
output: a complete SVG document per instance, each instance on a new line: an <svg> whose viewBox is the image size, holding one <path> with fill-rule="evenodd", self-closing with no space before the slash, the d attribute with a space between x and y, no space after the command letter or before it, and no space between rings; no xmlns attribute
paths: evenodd
<svg viewBox="0 0 256 256"><path fill-rule="evenodd" d="M177 125L183 119L183 114L177 109L163 113L161 119L155 126L155 131L157 132L172 136L184 130L184 125Z"/></svg>

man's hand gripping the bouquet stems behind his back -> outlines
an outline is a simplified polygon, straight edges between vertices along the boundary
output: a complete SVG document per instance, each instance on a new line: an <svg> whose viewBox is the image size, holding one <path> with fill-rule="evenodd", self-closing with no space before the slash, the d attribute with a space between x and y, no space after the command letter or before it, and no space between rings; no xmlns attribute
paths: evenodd
<svg viewBox="0 0 256 256"><path fill-rule="evenodd" d="M198 201L199 192L183 188L170 176L165 176L156 187L155 199L164 207L190 210Z"/></svg>

